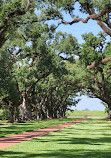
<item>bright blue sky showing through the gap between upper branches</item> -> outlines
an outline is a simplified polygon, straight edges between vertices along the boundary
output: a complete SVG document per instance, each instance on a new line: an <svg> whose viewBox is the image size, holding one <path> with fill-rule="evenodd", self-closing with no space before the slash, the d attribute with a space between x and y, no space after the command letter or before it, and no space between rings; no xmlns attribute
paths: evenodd
<svg viewBox="0 0 111 158"><path fill-rule="evenodd" d="M79 15L80 18L85 19L88 15L79 12L79 4L76 3L75 15ZM71 22L72 18L70 15L64 13L64 20ZM61 24L56 31L67 32L72 34L78 39L79 43L83 43L82 34L92 32L94 35L97 35L100 31L103 32L101 27L97 25L95 20L89 20L88 23L84 24L82 22L75 23L73 25L64 25ZM110 36L107 36L107 40L111 40Z"/></svg>

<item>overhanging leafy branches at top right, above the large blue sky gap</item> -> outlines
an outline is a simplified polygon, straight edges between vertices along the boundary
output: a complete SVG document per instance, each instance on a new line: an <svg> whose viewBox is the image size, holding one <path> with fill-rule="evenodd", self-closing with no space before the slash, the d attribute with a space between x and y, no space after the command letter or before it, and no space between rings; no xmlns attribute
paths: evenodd
<svg viewBox="0 0 111 158"><path fill-rule="evenodd" d="M111 1L110 0L49 0L47 14L52 19L61 19L61 23L74 24L78 22L87 23L90 19L95 20L105 33L111 36ZM86 14L86 19L76 15L76 3L79 11ZM51 11L50 11L51 10ZM72 21L65 21L64 11L72 17Z"/></svg>

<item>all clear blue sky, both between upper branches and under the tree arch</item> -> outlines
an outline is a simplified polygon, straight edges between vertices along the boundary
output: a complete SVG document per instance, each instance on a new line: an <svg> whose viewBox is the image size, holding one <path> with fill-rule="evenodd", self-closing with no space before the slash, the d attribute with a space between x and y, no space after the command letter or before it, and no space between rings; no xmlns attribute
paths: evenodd
<svg viewBox="0 0 111 158"><path fill-rule="evenodd" d="M87 15L83 15L78 11L79 4L76 4L76 10L75 14L79 15L81 18L86 18ZM64 13L64 20L65 21L72 21L71 17L68 14ZM56 31L61 31L63 33L69 33L75 36L78 40L78 42L81 44L83 43L83 39L81 37L82 34L92 32L94 35L97 35L100 31L103 32L103 30L100 28L99 25L97 25L96 21L94 20L89 20L88 23L83 24L82 22L75 23L73 25L64 25L61 24ZM111 38L107 36L107 41L110 41ZM81 101L77 104L76 107L72 107L72 109L77 109L77 110L85 110L89 109L90 111L104 111L105 107L101 103L101 100L97 98L88 98L87 96L81 96L80 97Z"/></svg>

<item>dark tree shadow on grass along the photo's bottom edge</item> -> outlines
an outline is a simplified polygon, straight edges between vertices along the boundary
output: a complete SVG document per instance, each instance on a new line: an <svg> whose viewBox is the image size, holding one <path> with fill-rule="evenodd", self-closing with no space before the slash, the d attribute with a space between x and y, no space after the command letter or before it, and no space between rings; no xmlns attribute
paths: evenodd
<svg viewBox="0 0 111 158"><path fill-rule="evenodd" d="M0 158L111 158L111 151L96 150L47 150L41 153L0 151Z"/></svg>

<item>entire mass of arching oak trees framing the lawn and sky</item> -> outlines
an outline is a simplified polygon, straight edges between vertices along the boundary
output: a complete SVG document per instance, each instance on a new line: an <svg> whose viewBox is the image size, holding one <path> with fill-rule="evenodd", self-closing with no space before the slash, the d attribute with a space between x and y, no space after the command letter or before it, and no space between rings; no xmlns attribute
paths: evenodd
<svg viewBox="0 0 111 158"><path fill-rule="evenodd" d="M75 14L76 3L86 19ZM111 35L110 0L1 0L0 10L0 107L9 110L10 122L64 117L81 90L111 110L106 35L84 34L80 45L71 34L55 32L61 24L92 19Z"/></svg>

